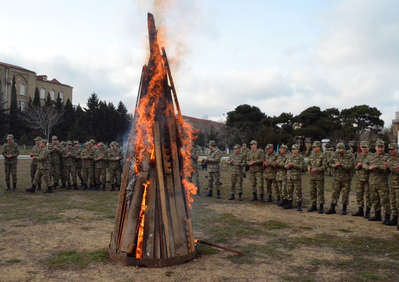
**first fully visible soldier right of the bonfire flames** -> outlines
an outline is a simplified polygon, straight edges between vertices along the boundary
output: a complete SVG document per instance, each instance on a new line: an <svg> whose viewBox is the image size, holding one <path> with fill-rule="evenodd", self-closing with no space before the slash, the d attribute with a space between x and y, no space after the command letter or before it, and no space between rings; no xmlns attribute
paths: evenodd
<svg viewBox="0 0 399 282"><path fill-rule="evenodd" d="M209 152L205 158L208 170L208 187L209 191L205 197L212 197L213 182L215 182L215 188L217 191L217 199L220 199L220 160L222 158L222 152L216 147L215 141L209 141Z"/></svg>

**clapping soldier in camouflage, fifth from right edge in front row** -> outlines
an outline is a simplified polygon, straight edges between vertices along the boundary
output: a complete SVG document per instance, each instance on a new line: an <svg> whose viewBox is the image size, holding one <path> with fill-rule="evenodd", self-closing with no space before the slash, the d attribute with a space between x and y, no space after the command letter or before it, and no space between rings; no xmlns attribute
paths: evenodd
<svg viewBox="0 0 399 282"><path fill-rule="evenodd" d="M312 207L308 211L317 211L317 200L320 204L319 213L324 213L324 171L327 169L327 156L320 151L322 143L314 141L313 154L310 154L307 164L310 172L310 201Z"/></svg>

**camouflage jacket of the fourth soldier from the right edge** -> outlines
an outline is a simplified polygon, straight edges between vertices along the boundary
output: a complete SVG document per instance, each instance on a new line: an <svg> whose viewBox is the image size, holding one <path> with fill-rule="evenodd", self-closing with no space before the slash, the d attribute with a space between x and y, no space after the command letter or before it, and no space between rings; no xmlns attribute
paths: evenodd
<svg viewBox="0 0 399 282"><path fill-rule="evenodd" d="M340 163L341 166L335 167L336 163ZM348 152L345 152L342 156L338 152L334 152L328 159L328 167L334 170L334 180L337 181L350 181L354 165L355 156Z"/></svg>

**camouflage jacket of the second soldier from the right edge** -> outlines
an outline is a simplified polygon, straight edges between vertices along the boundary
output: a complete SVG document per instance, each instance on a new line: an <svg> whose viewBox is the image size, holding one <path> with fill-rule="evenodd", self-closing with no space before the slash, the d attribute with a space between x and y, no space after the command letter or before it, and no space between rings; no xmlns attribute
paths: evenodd
<svg viewBox="0 0 399 282"><path fill-rule="evenodd" d="M367 156L365 163L363 163L363 170L369 171L369 184L379 185L388 182L389 170L385 168L384 163L387 162L390 156L386 153L382 153L377 156L376 153L371 153ZM369 170L369 167L375 164L377 168L375 170Z"/></svg>

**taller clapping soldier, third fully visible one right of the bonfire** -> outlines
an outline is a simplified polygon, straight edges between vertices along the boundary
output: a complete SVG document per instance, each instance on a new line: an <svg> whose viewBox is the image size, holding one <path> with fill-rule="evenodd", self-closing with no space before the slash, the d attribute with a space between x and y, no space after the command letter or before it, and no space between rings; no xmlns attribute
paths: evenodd
<svg viewBox="0 0 399 282"><path fill-rule="evenodd" d="M251 181L253 198L251 201L257 201L259 195L261 196L261 202L264 203L263 194L265 192L263 188L263 161L265 160L265 152L258 149L258 142L255 140L251 141L251 150L247 154L247 166L249 166L249 180Z"/></svg>

